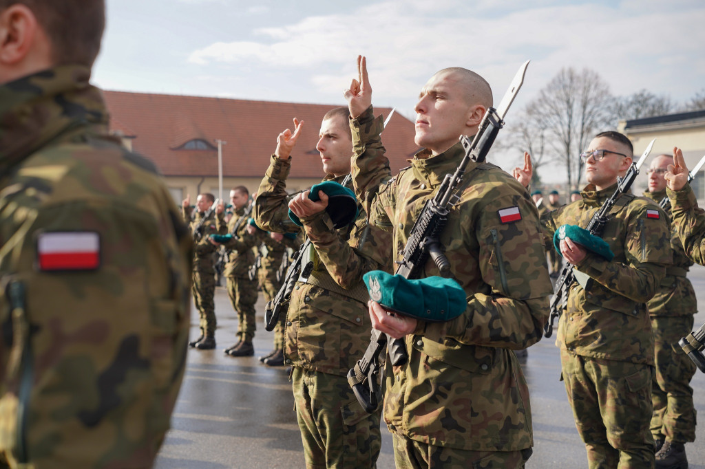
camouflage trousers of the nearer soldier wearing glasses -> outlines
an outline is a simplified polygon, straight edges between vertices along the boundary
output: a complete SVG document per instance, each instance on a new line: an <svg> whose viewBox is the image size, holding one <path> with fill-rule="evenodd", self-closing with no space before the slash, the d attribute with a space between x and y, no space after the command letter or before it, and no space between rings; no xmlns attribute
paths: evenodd
<svg viewBox="0 0 705 469"><path fill-rule="evenodd" d="M588 467L653 468L649 365L570 354L561 349L565 391L587 449Z"/></svg>

